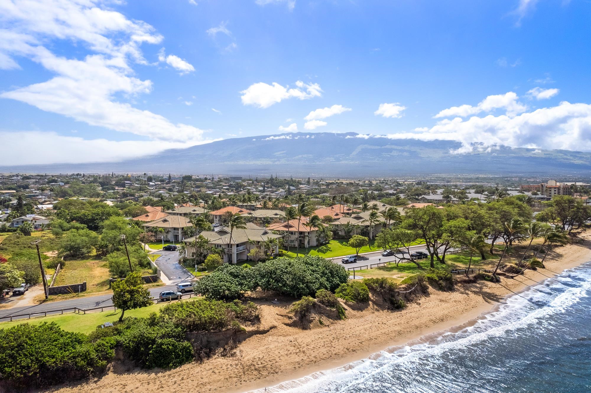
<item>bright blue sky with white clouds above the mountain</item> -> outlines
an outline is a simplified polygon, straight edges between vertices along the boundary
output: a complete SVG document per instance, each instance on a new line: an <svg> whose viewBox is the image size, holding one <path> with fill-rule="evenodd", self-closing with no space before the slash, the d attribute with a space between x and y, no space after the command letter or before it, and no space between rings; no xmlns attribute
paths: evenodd
<svg viewBox="0 0 591 393"><path fill-rule="evenodd" d="M0 165L355 132L591 151L591 3L2 0Z"/></svg>

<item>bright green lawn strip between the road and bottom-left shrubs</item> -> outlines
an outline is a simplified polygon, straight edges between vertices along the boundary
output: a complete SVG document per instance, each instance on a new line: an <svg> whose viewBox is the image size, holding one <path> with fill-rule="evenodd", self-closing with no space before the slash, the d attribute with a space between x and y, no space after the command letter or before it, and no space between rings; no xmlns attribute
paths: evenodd
<svg viewBox="0 0 591 393"><path fill-rule="evenodd" d="M182 302L191 302L194 299L198 299L197 297L191 297L191 299L181 300ZM157 311L160 307L168 304L168 302L158 302L156 304L152 304L151 306L144 307L142 309L137 310L128 310L125 312L125 317L146 317L150 315L150 313ZM19 325L20 323L41 323L41 322L56 322L60 325L64 330L69 330L71 332L81 332L81 333L90 333L95 330L95 327L102 325L105 322L115 322L121 316L121 311L117 310L116 312L113 310L103 311L103 312L90 312L87 314L64 314L64 315L56 315L56 316L47 316L47 317L37 317L31 319L21 319L15 320L12 322L0 322L0 329L12 327L15 325Z"/></svg>

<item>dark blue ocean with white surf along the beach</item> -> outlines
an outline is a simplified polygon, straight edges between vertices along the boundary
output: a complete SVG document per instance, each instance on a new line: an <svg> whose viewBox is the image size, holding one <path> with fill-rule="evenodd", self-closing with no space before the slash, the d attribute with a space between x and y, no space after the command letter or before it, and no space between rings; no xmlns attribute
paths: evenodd
<svg viewBox="0 0 591 393"><path fill-rule="evenodd" d="M508 297L472 326L267 392L591 392L591 263Z"/></svg>

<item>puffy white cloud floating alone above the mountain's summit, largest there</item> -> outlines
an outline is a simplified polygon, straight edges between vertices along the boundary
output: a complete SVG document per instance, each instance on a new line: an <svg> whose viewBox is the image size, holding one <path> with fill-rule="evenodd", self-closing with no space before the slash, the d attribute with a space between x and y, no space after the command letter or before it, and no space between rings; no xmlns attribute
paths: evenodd
<svg viewBox="0 0 591 393"><path fill-rule="evenodd" d="M248 89L242 90L240 93L242 94L240 97L242 104L268 108L285 99L297 98L307 100L313 97L320 97L322 96L322 89L320 89L317 83L306 84L298 80L296 82L296 88L290 89L289 86L284 87L275 82L272 84L259 82L252 84Z"/></svg>

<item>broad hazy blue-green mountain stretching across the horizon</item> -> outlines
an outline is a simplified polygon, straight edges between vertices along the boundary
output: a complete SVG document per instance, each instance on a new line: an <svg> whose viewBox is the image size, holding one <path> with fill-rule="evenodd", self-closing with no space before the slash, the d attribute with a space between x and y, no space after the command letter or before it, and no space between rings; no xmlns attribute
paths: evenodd
<svg viewBox="0 0 591 393"><path fill-rule="evenodd" d="M224 139L187 149L111 163L0 167L0 172L150 172L294 177L391 176L420 173L576 175L591 169L591 153L500 146L454 154L460 143L364 138L356 133L285 133Z"/></svg>

